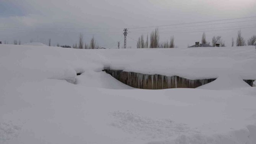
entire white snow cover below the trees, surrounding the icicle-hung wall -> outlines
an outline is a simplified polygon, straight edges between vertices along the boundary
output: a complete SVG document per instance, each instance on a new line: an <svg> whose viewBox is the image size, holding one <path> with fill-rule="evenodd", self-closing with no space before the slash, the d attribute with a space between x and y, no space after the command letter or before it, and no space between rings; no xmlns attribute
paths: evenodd
<svg viewBox="0 0 256 144"><path fill-rule="evenodd" d="M217 79L198 89L143 90L104 68ZM0 144L256 144L256 87L243 81L256 79L255 47L2 44L0 79Z"/></svg>

